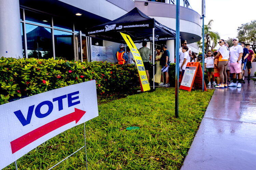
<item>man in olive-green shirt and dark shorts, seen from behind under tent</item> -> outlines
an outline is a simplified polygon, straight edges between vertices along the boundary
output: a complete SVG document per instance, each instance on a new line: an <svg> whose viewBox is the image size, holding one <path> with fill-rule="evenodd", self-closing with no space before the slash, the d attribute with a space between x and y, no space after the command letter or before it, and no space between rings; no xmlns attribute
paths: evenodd
<svg viewBox="0 0 256 170"><path fill-rule="evenodd" d="M149 61L152 58L152 51L149 48L147 48L147 42L146 41L142 42L142 47L139 49L139 53L140 53L141 59L143 61L145 70L146 70L147 80L149 82L150 77L149 77L148 70L150 69Z"/></svg>

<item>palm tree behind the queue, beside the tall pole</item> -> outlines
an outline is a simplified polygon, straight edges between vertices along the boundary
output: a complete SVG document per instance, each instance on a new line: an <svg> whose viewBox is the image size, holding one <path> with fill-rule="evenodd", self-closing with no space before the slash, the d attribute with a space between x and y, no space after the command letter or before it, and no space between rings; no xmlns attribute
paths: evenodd
<svg viewBox="0 0 256 170"><path fill-rule="evenodd" d="M213 20L210 20L207 25L204 25L204 51L212 50L218 44L218 40L220 39L219 33L211 31L212 30ZM197 42L199 48L202 49L202 42Z"/></svg>

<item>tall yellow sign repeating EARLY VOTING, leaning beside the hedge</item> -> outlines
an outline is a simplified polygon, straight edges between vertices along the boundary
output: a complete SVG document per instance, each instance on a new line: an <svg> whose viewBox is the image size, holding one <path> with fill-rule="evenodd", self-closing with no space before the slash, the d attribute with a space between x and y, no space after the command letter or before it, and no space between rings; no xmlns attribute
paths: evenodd
<svg viewBox="0 0 256 170"><path fill-rule="evenodd" d="M137 69L139 72L139 77L140 77L141 90L142 91L150 90L150 85L149 85L149 82L147 81L146 70L145 70L143 61L141 60L139 50L137 49L137 47L135 46L135 44L133 43L133 41L131 40L131 37L129 35L121 33L121 32L120 32L120 34L123 36L126 44L130 48L132 55L134 57L134 60L136 62L136 66L137 66Z"/></svg>

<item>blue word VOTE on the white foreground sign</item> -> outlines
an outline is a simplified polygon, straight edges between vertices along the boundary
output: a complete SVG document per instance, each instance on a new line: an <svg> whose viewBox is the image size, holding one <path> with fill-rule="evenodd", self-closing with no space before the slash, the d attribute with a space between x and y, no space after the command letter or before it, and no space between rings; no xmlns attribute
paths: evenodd
<svg viewBox="0 0 256 170"><path fill-rule="evenodd" d="M68 107L80 104L80 100L72 102L73 100L79 99L79 96L77 94L79 94L79 91L75 91L75 92L72 92L67 95L59 96L59 97L53 98L53 102L58 101L58 110L61 111L61 110L63 110L63 99L65 99L65 98L68 98ZM77 96L74 96L74 95L77 95ZM74 96L74 97L72 97L72 96ZM41 111L40 111L40 109L43 105L48 106L48 111L46 113L41 113ZM35 105L31 105L28 107L27 119L24 117L23 113L20 110L14 112L14 114L16 115L16 117L18 118L18 120L20 121L20 123L23 126L25 126L31 122L32 114L34 111L34 106ZM37 116L38 118L44 118L44 117L48 116L49 114L51 114L52 111L53 111L53 103L51 101L46 100L46 101L39 103L37 105L37 107L35 107L35 116Z"/></svg>

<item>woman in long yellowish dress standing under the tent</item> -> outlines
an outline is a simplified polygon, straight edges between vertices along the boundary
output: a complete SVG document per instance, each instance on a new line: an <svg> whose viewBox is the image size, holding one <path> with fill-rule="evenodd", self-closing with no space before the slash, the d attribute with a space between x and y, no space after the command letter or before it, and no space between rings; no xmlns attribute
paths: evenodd
<svg viewBox="0 0 256 170"><path fill-rule="evenodd" d="M161 58L162 54L163 53L161 52L161 48L157 47L156 48L156 58L155 58L155 61L156 61L155 82L158 83L159 85L163 84L163 81L162 81L162 71L161 71L162 67L160 66L160 58Z"/></svg>

